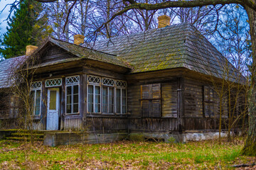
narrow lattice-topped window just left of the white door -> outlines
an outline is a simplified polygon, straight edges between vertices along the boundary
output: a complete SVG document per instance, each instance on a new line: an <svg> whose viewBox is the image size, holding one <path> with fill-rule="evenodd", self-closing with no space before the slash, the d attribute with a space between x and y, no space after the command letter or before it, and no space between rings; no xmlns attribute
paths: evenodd
<svg viewBox="0 0 256 170"><path fill-rule="evenodd" d="M41 88L42 81L34 81L31 84L31 108L33 115L41 114Z"/></svg>

